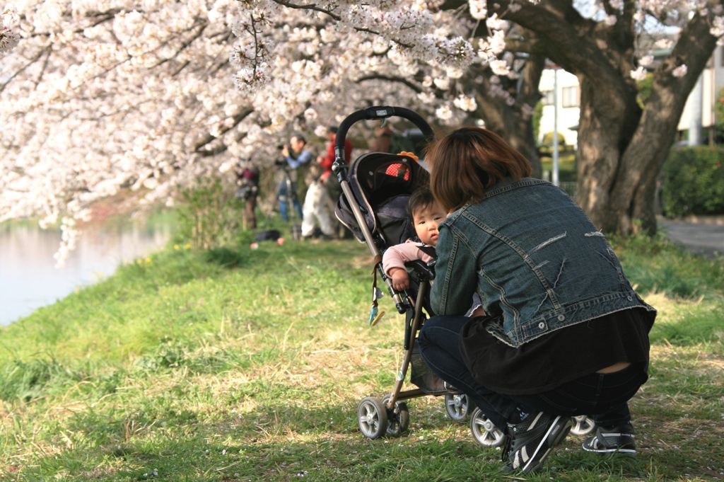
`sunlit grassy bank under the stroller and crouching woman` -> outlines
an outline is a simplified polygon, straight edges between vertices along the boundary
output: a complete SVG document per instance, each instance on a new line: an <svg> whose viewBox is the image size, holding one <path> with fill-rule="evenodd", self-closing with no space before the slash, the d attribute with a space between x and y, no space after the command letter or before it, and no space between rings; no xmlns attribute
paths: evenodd
<svg viewBox="0 0 724 482"><path fill-rule="evenodd" d="M724 263L643 238L615 249L660 310L631 403L638 457L571 436L515 480L724 478ZM439 398L408 403L403 437L358 431L358 402L389 393L402 354L389 297L367 323L370 273L355 241L171 246L2 328L0 480L510 480Z"/></svg>

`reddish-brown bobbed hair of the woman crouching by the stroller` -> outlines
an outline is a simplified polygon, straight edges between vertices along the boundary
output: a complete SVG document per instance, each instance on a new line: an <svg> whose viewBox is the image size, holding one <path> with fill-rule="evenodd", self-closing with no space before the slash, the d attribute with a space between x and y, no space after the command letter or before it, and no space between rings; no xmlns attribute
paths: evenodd
<svg viewBox="0 0 724 482"><path fill-rule="evenodd" d="M485 191L505 178L531 175L531 163L496 133L466 127L437 141L425 155L430 166L430 188L435 199L455 211L481 201Z"/></svg>

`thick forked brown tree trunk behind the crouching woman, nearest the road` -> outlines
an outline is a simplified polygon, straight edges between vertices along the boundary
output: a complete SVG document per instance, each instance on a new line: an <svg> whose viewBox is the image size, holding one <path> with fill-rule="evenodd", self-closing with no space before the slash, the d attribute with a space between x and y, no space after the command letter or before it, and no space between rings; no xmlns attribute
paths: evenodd
<svg viewBox="0 0 724 482"><path fill-rule="evenodd" d="M489 0L491 12L505 14L509 0ZM654 72L644 111L631 79L635 53L633 9L623 9L613 26L581 17L572 0L522 4L506 15L536 33L547 57L578 77L576 201L605 232L630 233L638 225L656 230L656 178L673 144L686 99L716 46L706 17L696 13L672 53ZM686 75L673 70L686 65Z"/></svg>

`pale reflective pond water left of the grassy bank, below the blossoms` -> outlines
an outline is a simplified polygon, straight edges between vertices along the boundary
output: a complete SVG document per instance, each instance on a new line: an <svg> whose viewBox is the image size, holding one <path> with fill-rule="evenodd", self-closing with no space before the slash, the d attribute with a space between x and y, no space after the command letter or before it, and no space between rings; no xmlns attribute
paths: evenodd
<svg viewBox="0 0 724 482"><path fill-rule="evenodd" d="M53 254L60 230L43 230L35 223L0 225L0 325L30 315L38 307L62 299L114 273L124 262L164 247L171 237L169 223L113 223L86 228L64 267Z"/></svg>

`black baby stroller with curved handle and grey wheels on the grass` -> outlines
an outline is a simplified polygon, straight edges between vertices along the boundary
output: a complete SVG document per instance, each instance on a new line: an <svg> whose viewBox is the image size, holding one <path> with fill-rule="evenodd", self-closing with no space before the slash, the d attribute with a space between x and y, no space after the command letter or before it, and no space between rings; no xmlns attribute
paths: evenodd
<svg viewBox="0 0 724 482"><path fill-rule="evenodd" d="M421 131L427 142L434 133L425 120L402 107L368 107L353 112L345 118L337 130L334 141L335 161L332 171L340 180L342 196L335 208L335 215L361 243L367 244L374 256L373 300L370 323L379 316L377 299L382 291L377 288L377 277L384 281L397 312L405 315L403 347L405 355L397 372L392 393L379 399L374 396L363 399L357 410L357 421L363 435L369 439L382 436L398 436L408 430L410 415L405 400L421 396L445 396L445 410L452 420L463 422L471 418L473 438L483 446L501 446L502 432L476 407L468 397L437 377L425 365L417 344L417 333L425 320L434 316L429 304L429 288L434 269L421 261L405 263L411 286L403 292L392 287L392 280L384 274L382 254L395 244L403 243L415 235L406 210L408 199L418 186L429 186L429 174L417 159L408 155L369 152L349 167L344 159L345 136L349 128L360 120L383 120L397 116L410 120ZM412 153L410 153L412 154ZM418 388L402 390L405 377L410 371L410 381ZM474 410L473 410L474 409ZM572 433L583 435L594 430L588 417L576 419Z"/></svg>

